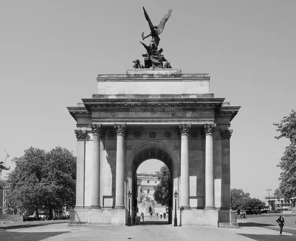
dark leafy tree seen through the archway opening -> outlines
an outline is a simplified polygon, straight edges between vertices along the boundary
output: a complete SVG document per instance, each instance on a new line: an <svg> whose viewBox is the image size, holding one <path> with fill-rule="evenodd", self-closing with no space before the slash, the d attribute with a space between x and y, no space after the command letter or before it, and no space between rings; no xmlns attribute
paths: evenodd
<svg viewBox="0 0 296 241"><path fill-rule="evenodd" d="M153 198L161 205L169 203L169 177L170 170L166 165L163 165L157 172L159 183L154 186Z"/></svg>

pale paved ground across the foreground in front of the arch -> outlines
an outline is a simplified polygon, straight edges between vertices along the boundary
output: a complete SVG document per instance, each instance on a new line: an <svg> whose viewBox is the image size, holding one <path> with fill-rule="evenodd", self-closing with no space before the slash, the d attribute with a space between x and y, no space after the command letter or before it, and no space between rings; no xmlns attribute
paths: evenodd
<svg viewBox="0 0 296 241"><path fill-rule="evenodd" d="M295 222L296 216L291 220L284 217L286 223ZM287 221L286 221L287 219ZM279 235L279 227L275 217L247 217L238 219L240 228L216 227L174 227L157 225L159 220L151 220L137 226L68 226L68 223L39 221L32 225L2 226L0 224L0 241L296 241L296 229L284 227L283 235ZM66 220L67 221L67 220ZM153 221L154 224L153 224ZM21 224L21 223L20 223Z"/></svg>

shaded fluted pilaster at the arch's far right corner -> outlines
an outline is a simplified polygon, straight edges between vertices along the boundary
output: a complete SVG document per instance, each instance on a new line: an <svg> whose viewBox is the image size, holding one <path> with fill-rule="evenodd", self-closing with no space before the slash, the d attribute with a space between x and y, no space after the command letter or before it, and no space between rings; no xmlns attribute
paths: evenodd
<svg viewBox="0 0 296 241"><path fill-rule="evenodd" d="M220 129L222 138L222 205L223 209L230 208L230 137L232 130Z"/></svg>

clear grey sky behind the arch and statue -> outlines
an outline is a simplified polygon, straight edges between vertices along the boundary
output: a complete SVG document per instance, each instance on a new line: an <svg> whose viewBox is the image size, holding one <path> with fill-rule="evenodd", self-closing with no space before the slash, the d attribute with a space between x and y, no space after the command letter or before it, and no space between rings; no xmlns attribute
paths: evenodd
<svg viewBox="0 0 296 241"><path fill-rule="evenodd" d="M296 109L295 0L2 0L0 142L10 161L30 146L76 155L66 107L97 92L98 74L143 62L142 6L154 25L173 8L159 43L172 67L209 73L210 93L241 106L231 121L231 188L271 195L289 145L273 123Z"/></svg>

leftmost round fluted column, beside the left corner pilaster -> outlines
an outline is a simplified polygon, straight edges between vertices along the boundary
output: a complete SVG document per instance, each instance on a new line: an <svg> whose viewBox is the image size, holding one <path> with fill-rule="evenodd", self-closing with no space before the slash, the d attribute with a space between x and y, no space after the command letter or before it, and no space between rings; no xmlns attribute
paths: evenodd
<svg viewBox="0 0 296 241"><path fill-rule="evenodd" d="M91 208L101 208L101 162L100 162L100 136L104 135L102 124L90 124L93 133L93 159L92 159L92 184L91 184Z"/></svg>

